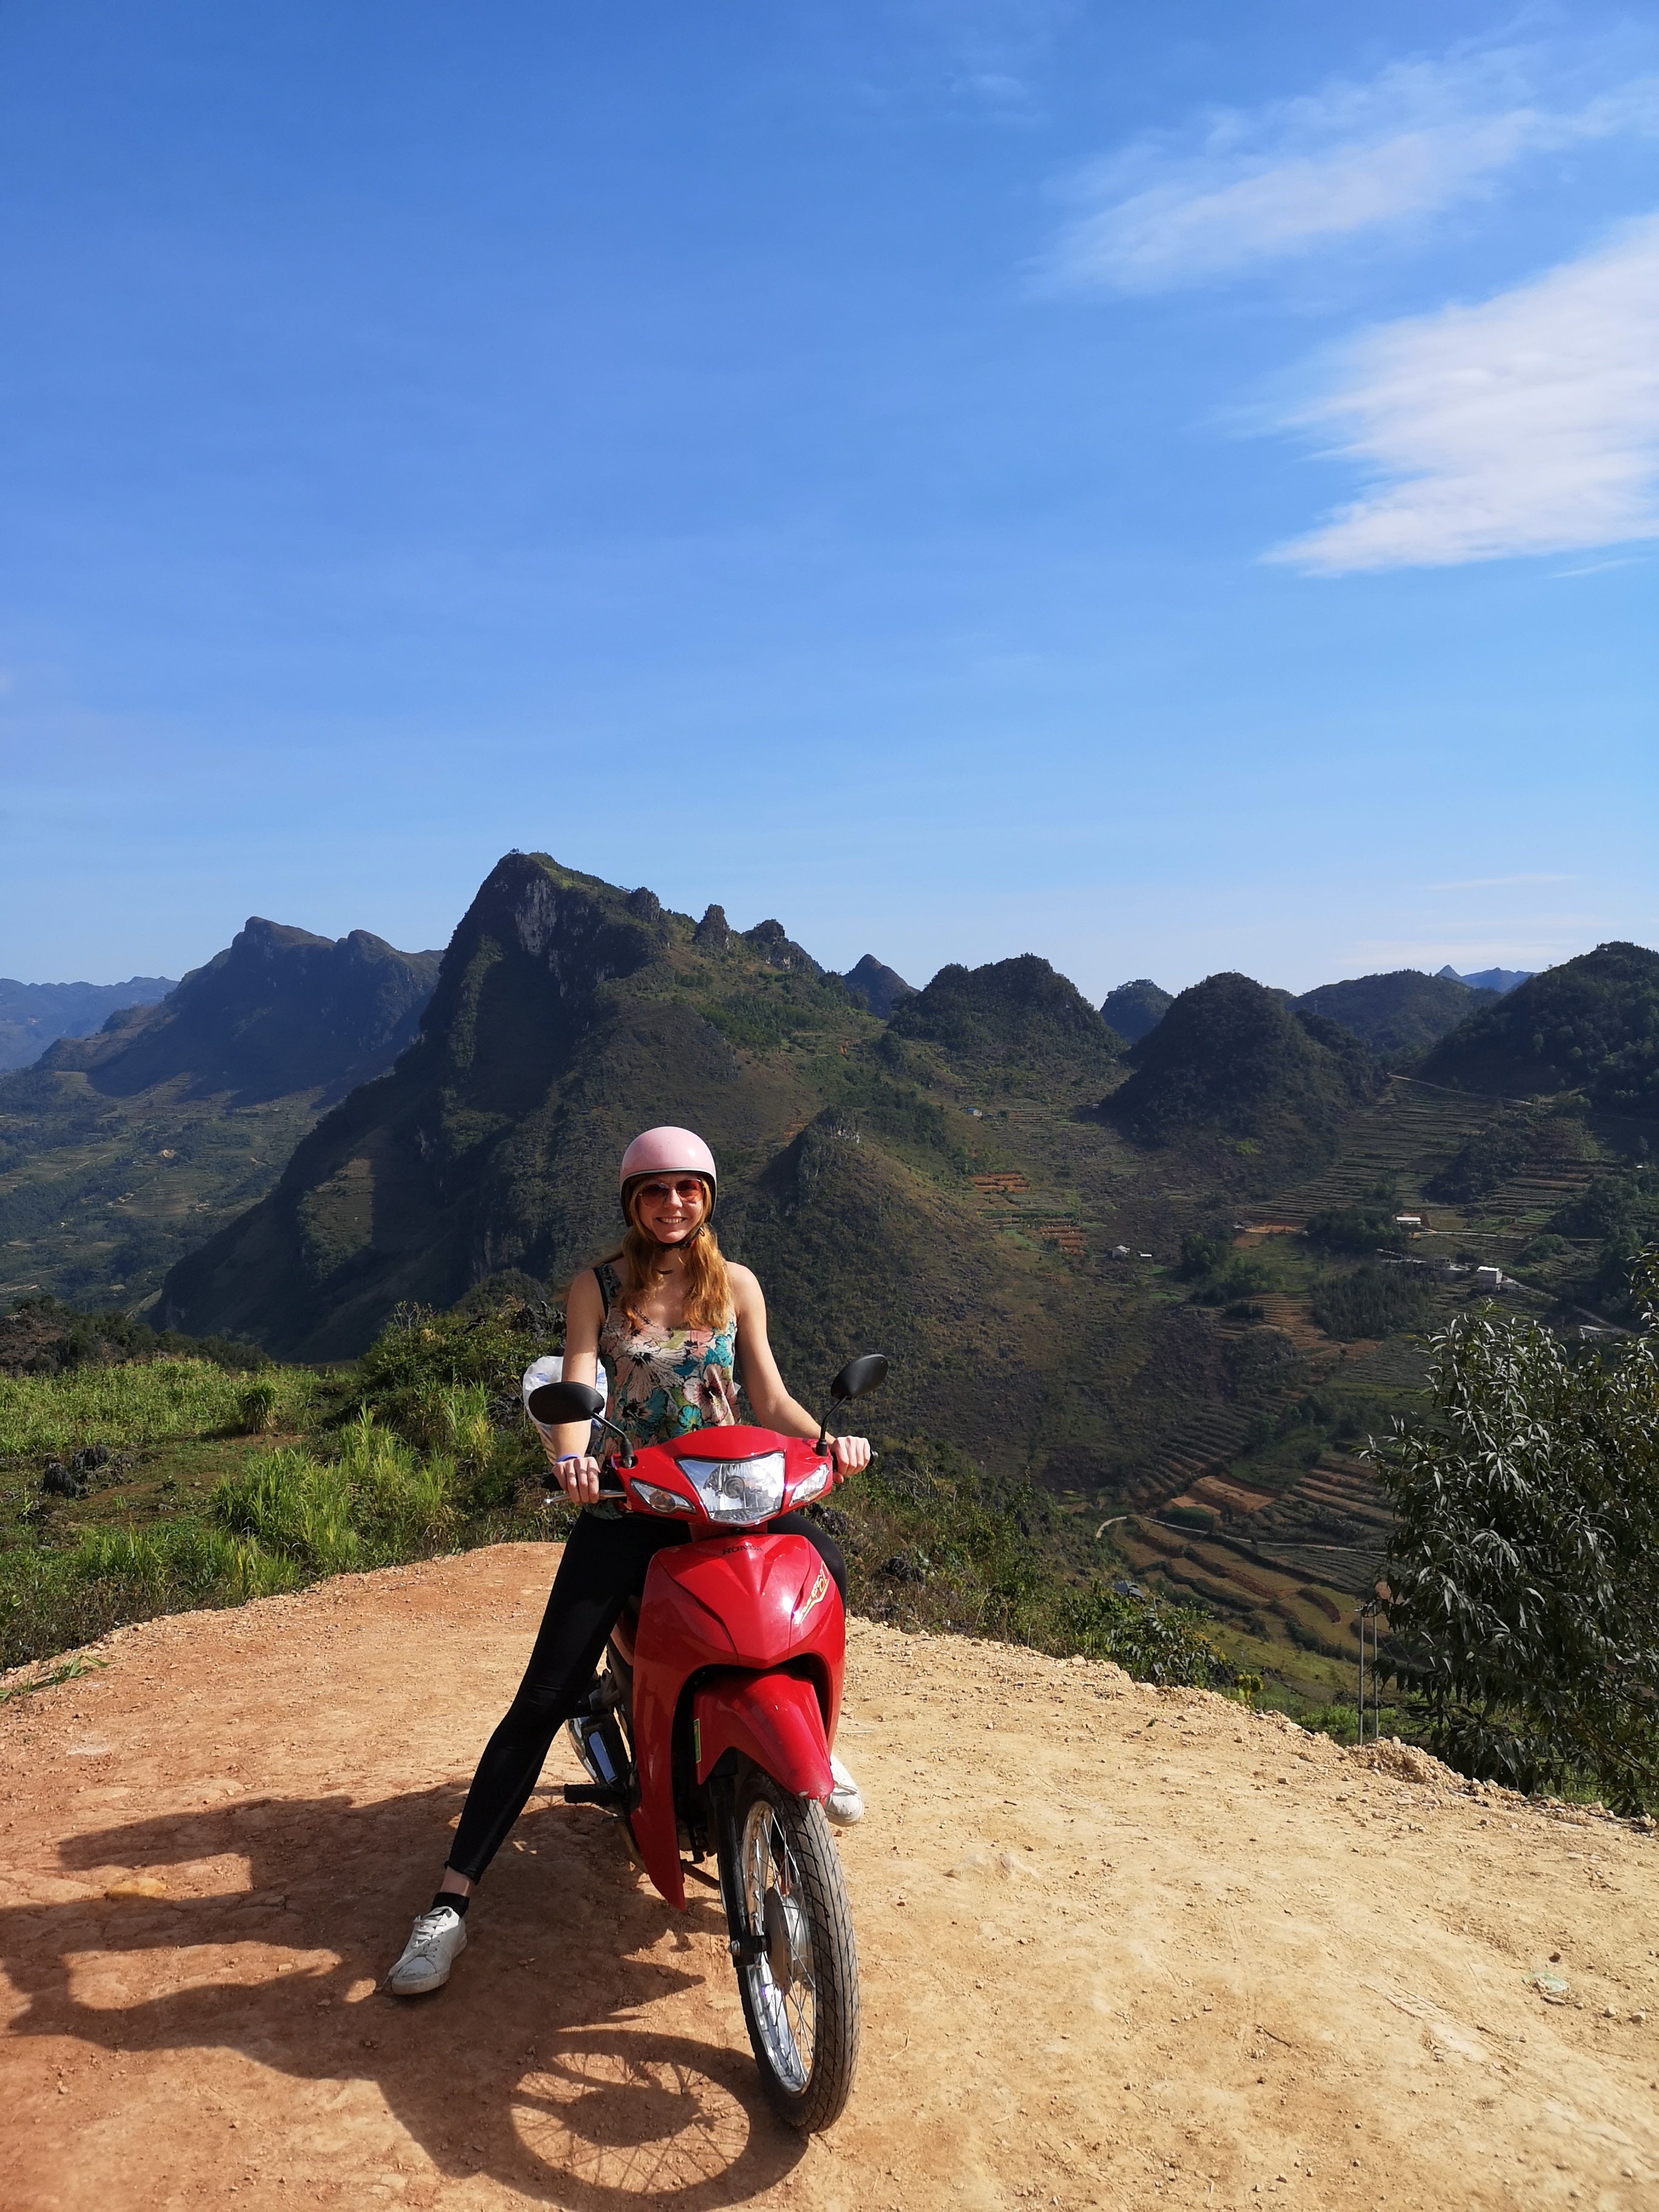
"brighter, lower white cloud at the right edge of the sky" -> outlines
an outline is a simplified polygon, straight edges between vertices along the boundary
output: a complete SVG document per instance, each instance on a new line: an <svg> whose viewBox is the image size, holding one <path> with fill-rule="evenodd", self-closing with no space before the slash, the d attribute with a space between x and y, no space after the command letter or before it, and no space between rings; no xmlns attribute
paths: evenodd
<svg viewBox="0 0 1659 2212"><path fill-rule="evenodd" d="M1385 323L1279 416L1376 489L1267 557L1340 575L1659 538L1659 215L1475 307Z"/></svg>

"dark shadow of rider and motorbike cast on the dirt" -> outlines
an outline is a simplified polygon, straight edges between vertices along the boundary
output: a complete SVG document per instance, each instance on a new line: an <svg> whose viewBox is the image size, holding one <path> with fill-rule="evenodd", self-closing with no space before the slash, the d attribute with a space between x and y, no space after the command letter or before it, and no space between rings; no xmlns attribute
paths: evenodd
<svg viewBox="0 0 1659 2212"><path fill-rule="evenodd" d="M529 1812L451 1984L414 2002L365 1986L427 1902L458 1807L456 1790L263 1798L69 1840L64 1871L104 1885L155 1869L190 1887L226 1858L248 1860L252 1885L0 1913L0 1960L27 1997L9 2033L126 2055L234 2051L296 2081L372 2084L440 2174L573 2212L641 2199L712 2212L781 2181L805 2146L739 2048L719 1900L675 1913L611 1820ZM675 2002L714 1975L706 1997Z"/></svg>

